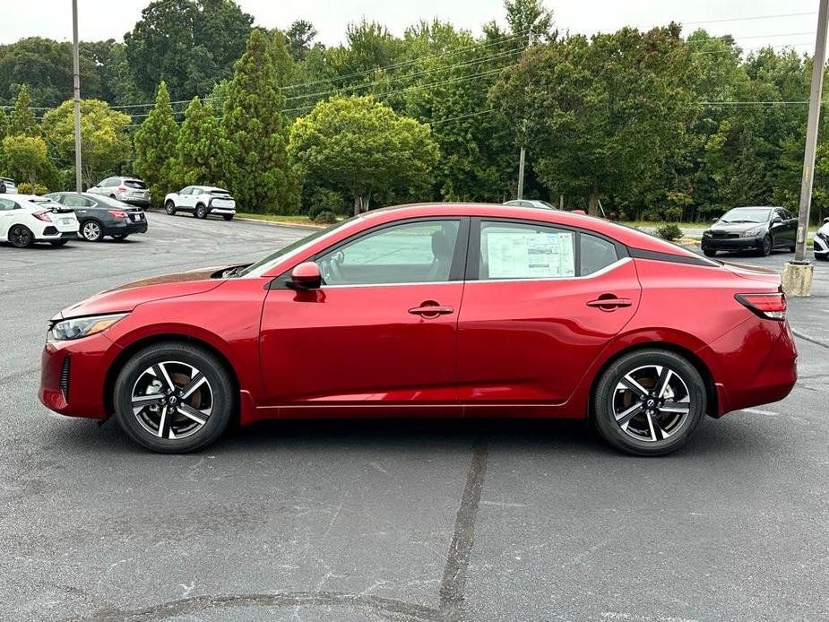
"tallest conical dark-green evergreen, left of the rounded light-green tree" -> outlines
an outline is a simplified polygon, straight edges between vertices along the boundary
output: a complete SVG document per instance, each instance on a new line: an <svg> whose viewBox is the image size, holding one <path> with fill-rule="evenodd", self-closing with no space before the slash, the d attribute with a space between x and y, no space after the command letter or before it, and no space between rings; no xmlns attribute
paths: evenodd
<svg viewBox="0 0 829 622"><path fill-rule="evenodd" d="M272 45L278 42L254 30L228 85L221 121L224 178L246 211L293 213L299 192L288 165L289 124L281 113L285 96Z"/></svg>

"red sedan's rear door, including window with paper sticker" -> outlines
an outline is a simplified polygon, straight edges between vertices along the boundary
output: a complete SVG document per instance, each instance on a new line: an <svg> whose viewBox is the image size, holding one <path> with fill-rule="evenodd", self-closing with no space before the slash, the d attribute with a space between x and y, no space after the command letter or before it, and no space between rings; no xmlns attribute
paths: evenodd
<svg viewBox="0 0 829 622"><path fill-rule="evenodd" d="M458 323L462 403L566 402L639 304L625 247L586 231L472 220L469 259Z"/></svg>

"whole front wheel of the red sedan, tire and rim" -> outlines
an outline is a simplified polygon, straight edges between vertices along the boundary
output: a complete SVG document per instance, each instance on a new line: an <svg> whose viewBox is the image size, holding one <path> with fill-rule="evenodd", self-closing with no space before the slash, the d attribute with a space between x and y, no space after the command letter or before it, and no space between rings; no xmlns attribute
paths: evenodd
<svg viewBox="0 0 829 622"><path fill-rule="evenodd" d="M164 454L210 445L233 412L233 384L220 360L186 343L162 343L135 354L118 374L113 398L121 428Z"/></svg>

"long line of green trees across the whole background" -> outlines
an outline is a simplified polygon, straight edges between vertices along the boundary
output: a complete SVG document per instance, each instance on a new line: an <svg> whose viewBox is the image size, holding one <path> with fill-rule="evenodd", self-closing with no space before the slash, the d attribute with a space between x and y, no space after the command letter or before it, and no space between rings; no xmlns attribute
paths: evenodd
<svg viewBox="0 0 829 622"><path fill-rule="evenodd" d="M791 48L676 23L562 34L539 0L506 0L505 26L478 37L437 21L399 37L353 23L334 47L315 36L304 21L255 27L230 0L159 0L123 43L83 43L84 179L134 173L156 197L228 186L250 212L501 202L525 147L525 195L592 213L797 205L811 59ZM0 169L48 187L73 179L70 55L47 39L0 47Z"/></svg>

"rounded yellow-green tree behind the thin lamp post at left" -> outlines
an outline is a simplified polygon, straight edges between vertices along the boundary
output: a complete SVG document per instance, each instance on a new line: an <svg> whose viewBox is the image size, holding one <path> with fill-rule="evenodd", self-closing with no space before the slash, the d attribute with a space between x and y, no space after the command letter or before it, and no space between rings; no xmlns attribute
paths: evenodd
<svg viewBox="0 0 829 622"><path fill-rule="evenodd" d="M86 186L94 186L102 177L117 172L120 162L130 157L129 124L130 117L109 108L106 101L81 100L81 174ZM41 126L56 157L74 162L73 101L69 99L49 110Z"/></svg>

